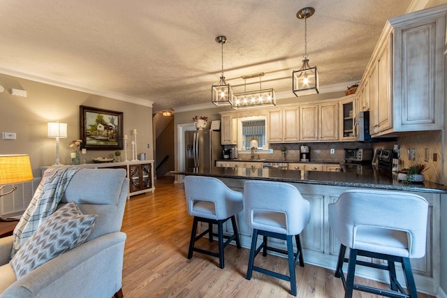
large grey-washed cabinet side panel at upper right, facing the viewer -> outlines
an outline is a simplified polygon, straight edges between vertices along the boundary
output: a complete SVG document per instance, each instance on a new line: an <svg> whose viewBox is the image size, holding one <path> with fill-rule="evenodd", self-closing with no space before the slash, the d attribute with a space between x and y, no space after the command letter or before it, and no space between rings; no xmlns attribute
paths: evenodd
<svg viewBox="0 0 447 298"><path fill-rule="evenodd" d="M395 131L443 129L445 22L432 17L395 29Z"/></svg>

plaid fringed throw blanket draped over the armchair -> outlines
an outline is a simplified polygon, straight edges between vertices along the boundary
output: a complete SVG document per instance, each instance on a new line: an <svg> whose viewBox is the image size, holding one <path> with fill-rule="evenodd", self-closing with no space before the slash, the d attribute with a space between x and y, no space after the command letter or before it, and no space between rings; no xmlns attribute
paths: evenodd
<svg viewBox="0 0 447 298"><path fill-rule="evenodd" d="M53 212L65 193L68 182L79 167L53 167L45 170L27 210L14 229L11 258Z"/></svg>

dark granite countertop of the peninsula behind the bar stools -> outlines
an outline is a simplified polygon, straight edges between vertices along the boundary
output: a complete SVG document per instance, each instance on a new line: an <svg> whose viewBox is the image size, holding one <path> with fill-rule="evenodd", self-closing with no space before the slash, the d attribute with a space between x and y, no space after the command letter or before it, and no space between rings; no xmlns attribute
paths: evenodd
<svg viewBox="0 0 447 298"><path fill-rule="evenodd" d="M228 161L228 160L227 160ZM364 166L362 174L354 172L291 171L279 169L252 169L245 167L214 167L211 170L193 172L192 170L172 171L173 174L193 174L198 176L269 180L290 183L376 188L395 191L420 191L425 193L447 193L447 187L425 181L423 184L402 184L388 171Z"/></svg>

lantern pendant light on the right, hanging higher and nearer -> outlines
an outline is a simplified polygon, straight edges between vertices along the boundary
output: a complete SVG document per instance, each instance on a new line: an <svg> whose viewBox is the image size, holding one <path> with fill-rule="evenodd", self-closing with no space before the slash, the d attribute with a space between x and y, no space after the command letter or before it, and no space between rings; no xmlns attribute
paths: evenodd
<svg viewBox="0 0 447 298"><path fill-rule="evenodd" d="M305 96L310 94L318 94L318 70L316 66L309 66L309 59L307 59L307 18L314 15L315 9L312 7L302 8L296 14L298 19L305 20L305 56L302 60L300 70L293 70L293 93L295 96Z"/></svg>

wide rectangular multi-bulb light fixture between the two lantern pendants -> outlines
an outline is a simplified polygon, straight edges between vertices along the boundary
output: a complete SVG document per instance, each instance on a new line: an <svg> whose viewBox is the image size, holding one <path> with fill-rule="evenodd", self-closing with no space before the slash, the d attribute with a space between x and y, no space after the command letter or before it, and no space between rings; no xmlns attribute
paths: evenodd
<svg viewBox="0 0 447 298"><path fill-rule="evenodd" d="M255 73L253 75L242 75L244 79L244 92L234 95L233 109L244 109L259 106L277 105L274 89L262 88L262 80L264 73ZM259 77L259 90L247 92L247 79Z"/></svg>

